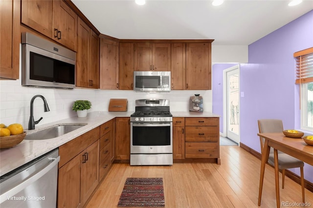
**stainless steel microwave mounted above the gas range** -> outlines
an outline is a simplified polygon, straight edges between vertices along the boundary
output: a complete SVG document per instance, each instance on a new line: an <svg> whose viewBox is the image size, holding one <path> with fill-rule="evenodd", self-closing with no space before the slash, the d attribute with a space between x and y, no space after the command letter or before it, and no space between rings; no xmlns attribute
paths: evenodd
<svg viewBox="0 0 313 208"><path fill-rule="evenodd" d="M171 72L134 71L134 91L136 92L171 91Z"/></svg>

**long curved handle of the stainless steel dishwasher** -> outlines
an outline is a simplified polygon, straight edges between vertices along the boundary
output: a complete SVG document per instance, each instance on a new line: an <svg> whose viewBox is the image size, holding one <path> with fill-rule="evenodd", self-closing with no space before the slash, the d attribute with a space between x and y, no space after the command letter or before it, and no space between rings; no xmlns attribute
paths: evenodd
<svg viewBox="0 0 313 208"><path fill-rule="evenodd" d="M50 163L49 165L45 166L43 169L41 169L40 171L38 171L36 174L34 174L33 176L31 176L30 178L26 179L25 181L23 181L21 184L19 184L16 187L11 188L10 190L4 192L3 194L1 194L0 196L0 204L2 204L3 202L5 202L8 197L10 196L14 196L15 194L19 193L21 190L23 190L25 187L28 187L30 184L34 183L35 181L37 181L39 178L41 178L42 176L44 176L49 170L51 170L54 166L56 166L59 161L60 161L60 156L58 156L57 158L49 158L49 160L53 160L52 163Z"/></svg>

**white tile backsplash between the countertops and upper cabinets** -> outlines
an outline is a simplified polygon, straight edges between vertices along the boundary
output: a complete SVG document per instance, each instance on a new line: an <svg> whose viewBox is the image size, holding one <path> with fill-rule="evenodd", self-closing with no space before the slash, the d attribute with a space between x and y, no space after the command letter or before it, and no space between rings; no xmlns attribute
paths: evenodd
<svg viewBox="0 0 313 208"><path fill-rule="evenodd" d="M11 83L8 83L11 82ZM14 84L17 84L14 86ZM128 111L134 111L135 100L146 98L169 99L171 111L188 111L189 98L194 94L203 96L204 111L212 112L211 90L172 90L167 93L145 93L132 90L92 90L92 89L47 89L21 86L18 81L0 81L0 123L6 125L21 123L28 127L30 115L30 100L34 95L43 95L50 111L44 112L42 99L34 101L34 119L44 119L38 125L55 122L61 119L75 117L76 112L71 110L75 100L89 100L92 103L91 111L108 111L111 98L128 99ZM15 90L6 90L8 87ZM21 92L19 91L21 90Z"/></svg>

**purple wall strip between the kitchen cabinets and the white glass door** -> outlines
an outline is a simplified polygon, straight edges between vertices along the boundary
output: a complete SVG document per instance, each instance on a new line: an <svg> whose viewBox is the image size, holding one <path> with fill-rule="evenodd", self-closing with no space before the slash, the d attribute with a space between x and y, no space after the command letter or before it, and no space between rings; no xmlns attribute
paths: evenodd
<svg viewBox="0 0 313 208"><path fill-rule="evenodd" d="M238 63L216 63L212 66L212 112L220 115L220 132L223 132L223 70Z"/></svg>

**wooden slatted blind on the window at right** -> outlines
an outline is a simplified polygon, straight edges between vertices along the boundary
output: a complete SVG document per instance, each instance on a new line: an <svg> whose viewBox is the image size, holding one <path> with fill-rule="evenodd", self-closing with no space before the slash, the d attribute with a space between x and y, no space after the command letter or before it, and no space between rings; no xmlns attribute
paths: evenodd
<svg viewBox="0 0 313 208"><path fill-rule="evenodd" d="M296 84L313 82L313 47L295 52L296 60Z"/></svg>

